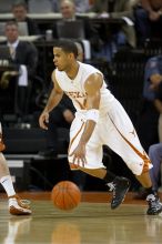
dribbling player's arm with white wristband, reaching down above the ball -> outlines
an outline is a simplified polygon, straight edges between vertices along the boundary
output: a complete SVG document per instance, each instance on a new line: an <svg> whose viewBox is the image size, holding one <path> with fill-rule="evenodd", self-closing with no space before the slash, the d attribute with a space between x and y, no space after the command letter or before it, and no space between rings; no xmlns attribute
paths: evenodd
<svg viewBox="0 0 162 244"><path fill-rule="evenodd" d="M102 87L102 83L103 83L103 78L99 73L91 74L84 83L84 89L87 92L87 109L88 109L87 122L80 142L77 149L71 154L73 155L73 163L75 162L75 160L78 163L81 160L83 165L87 163L85 145L90 140L94 131L95 124L98 123L99 120L99 106L101 99L100 89Z"/></svg>

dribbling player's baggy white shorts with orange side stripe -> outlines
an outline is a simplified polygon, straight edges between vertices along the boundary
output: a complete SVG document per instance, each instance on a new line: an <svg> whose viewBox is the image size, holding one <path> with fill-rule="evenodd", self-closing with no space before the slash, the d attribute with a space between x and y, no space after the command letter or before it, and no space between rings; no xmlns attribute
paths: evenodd
<svg viewBox="0 0 162 244"><path fill-rule="evenodd" d="M69 155L77 148L84 130L85 121L77 114L70 129ZM150 159L144 152L134 126L118 100L113 100L111 110L99 119L93 134L85 148L87 169L102 169L103 145L108 145L119 154L133 174L140 175L152 167ZM78 169L78 163L72 163L73 156L69 156L71 170ZM82 164L80 164L82 166Z"/></svg>

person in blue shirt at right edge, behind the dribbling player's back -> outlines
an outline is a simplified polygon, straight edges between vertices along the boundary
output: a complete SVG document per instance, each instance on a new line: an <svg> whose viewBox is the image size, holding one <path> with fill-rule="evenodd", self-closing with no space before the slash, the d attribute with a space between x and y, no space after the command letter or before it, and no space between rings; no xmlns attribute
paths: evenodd
<svg viewBox="0 0 162 244"><path fill-rule="evenodd" d="M143 106L139 121L139 136L148 152L149 146L159 142L156 109L161 93L162 81L162 55L150 58L145 64L143 84ZM161 93L161 94L160 94Z"/></svg>

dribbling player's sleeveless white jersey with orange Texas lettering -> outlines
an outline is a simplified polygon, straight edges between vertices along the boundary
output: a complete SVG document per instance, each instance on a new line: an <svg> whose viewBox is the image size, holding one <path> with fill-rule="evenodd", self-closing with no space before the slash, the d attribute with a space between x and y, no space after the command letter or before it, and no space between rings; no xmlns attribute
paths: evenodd
<svg viewBox="0 0 162 244"><path fill-rule="evenodd" d="M79 62L79 71L73 80L71 80L64 71L55 69L55 79L58 84L72 100L75 110L82 113L85 113L87 111L84 82L93 73L100 73L103 77L102 72L94 67L81 62ZM101 88L100 114L109 111L109 108L111 108L111 101L113 100L114 96L111 94L110 90L107 89L107 83L103 80Z"/></svg>

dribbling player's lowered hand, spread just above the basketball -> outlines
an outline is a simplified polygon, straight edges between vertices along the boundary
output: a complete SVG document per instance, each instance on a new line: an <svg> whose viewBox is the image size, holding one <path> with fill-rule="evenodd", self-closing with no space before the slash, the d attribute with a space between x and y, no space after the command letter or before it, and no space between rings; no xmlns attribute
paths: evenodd
<svg viewBox="0 0 162 244"><path fill-rule="evenodd" d="M85 159L85 145L79 144L74 151L70 154L70 156L73 156L73 164L78 164L80 166L84 166L87 164Z"/></svg>

